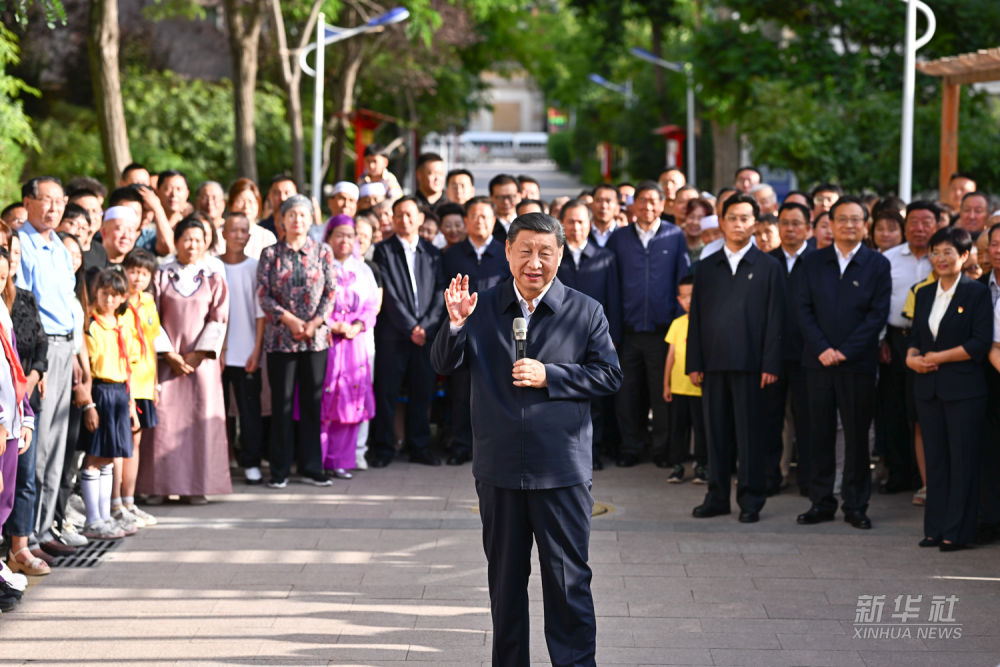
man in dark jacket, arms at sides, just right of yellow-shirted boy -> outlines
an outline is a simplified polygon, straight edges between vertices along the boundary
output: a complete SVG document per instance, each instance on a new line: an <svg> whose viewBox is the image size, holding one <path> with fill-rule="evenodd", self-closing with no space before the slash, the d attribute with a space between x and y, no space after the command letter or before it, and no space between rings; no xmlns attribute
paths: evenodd
<svg viewBox="0 0 1000 667"><path fill-rule="evenodd" d="M694 270L687 373L702 387L708 436L708 492L692 511L699 519L729 514L734 459L740 522L759 521L767 499L764 390L781 372L785 272L752 242L759 214L750 195L726 200L725 244Z"/></svg>

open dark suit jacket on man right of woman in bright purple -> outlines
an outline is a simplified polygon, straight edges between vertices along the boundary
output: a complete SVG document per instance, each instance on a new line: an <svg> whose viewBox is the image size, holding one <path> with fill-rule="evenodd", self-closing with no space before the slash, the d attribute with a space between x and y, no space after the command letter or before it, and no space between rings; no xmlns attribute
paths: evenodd
<svg viewBox="0 0 1000 667"><path fill-rule="evenodd" d="M382 311L375 326L378 340L409 340L418 324L434 338L445 318L444 270L441 251L423 239L417 243L413 275L417 282L417 307L413 303L413 288L406 268L403 244L393 236L375 245L373 257L382 271Z"/></svg>

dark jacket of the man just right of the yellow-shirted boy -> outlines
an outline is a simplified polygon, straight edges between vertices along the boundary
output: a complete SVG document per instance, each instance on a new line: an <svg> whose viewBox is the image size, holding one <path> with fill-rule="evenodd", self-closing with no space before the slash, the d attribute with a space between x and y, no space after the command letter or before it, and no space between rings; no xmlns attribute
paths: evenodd
<svg viewBox="0 0 1000 667"><path fill-rule="evenodd" d="M694 267L686 373L781 374L785 267L751 246L729 268L723 250Z"/></svg>

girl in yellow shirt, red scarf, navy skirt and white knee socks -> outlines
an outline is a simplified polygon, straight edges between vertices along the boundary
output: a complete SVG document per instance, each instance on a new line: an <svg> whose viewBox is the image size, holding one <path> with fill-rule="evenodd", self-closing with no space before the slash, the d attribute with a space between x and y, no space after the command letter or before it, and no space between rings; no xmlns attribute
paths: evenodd
<svg viewBox="0 0 1000 667"><path fill-rule="evenodd" d="M132 456L132 431L139 426L128 388L138 335L131 314L124 315L128 283L121 271L102 270L93 289L95 299L84 334L94 402L83 408L83 425L93 433L80 472L87 511L83 536L116 540L125 532L111 520L112 468L116 458Z"/></svg>

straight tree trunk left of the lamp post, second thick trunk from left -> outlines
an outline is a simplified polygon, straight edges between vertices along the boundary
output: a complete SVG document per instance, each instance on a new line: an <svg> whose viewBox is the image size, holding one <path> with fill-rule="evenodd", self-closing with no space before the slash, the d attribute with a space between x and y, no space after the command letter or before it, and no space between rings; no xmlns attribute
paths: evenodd
<svg viewBox="0 0 1000 667"><path fill-rule="evenodd" d="M229 52L233 59L233 111L236 125L236 174L257 181L254 92L264 0L225 0Z"/></svg>

